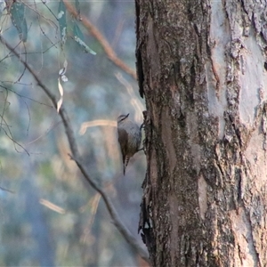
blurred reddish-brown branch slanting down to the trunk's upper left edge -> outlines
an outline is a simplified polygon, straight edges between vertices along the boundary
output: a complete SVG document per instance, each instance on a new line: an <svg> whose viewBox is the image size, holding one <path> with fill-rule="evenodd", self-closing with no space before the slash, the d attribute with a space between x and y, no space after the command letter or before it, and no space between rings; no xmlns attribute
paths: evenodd
<svg viewBox="0 0 267 267"><path fill-rule="evenodd" d="M104 52L107 54L107 57L110 61L112 61L115 65L117 65L118 68L125 71L127 74L129 74L131 77L133 77L135 80L136 72L134 69L131 69L128 67L124 61L121 61L117 54L114 52L112 47L110 46L109 42L106 40L106 38L101 34L98 28L96 28L93 23L88 20L85 16L82 14L78 14L76 9L72 4L70 4L69 1L64 0L64 4L66 5L68 11L70 14L72 14L75 18L79 18L81 20L81 23L85 26L85 28L91 33L92 36L95 37L95 39L98 40L98 42L101 44Z"/></svg>

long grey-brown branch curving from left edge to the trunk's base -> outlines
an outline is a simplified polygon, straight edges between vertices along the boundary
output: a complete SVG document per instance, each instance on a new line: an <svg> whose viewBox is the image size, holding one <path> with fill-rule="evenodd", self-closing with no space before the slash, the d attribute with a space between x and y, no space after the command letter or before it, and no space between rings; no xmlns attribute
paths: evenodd
<svg viewBox="0 0 267 267"><path fill-rule="evenodd" d="M53 102L53 107L56 109L57 108L56 97L43 84L43 82L40 80L40 78L37 77L35 71L33 69L31 69L31 67L28 65L28 62L23 61L20 58L20 53L18 53L16 50L14 50L12 48L11 44L6 43L6 41L4 40L4 38L2 36L0 36L0 42L2 44L4 44L20 60L20 62L24 65L24 67L26 69L28 69L28 72L35 78L37 85L39 85L44 90L44 93L46 93L46 95L49 97L49 99ZM128 231L125 228L124 224L118 218L117 211L116 211L115 207L112 205L112 202L111 202L110 198L101 189L101 186L97 182L95 182L90 177L88 172L86 171L85 165L82 163L82 160L81 160L81 158L79 156L79 153L78 153L78 150L77 150L77 142L75 140L73 130L72 130L71 126L70 126L69 116L68 116L67 111L64 109L63 106L61 106L59 114L61 116L63 125L65 127L65 132L66 132L66 135L67 135L67 138L68 138L68 141L69 141L69 147L70 147L70 150L71 150L71 153L72 153L71 158L74 159L74 161L76 162L76 164L77 164L78 168L80 169L81 173L84 175L85 180L87 182L89 182L89 184L92 186L93 190L96 190L97 192L99 192L101 194L101 198L103 198L104 203L105 203L105 205L106 205L106 207L107 207L107 209L109 211L110 217L112 218L113 223L117 227L117 230L122 234L122 236L128 242L128 244L133 249L133 251L135 253L141 255L142 258L146 262L150 263L150 259L149 259L148 253L138 244L136 239L134 239L134 236L130 233L130 231Z"/></svg>

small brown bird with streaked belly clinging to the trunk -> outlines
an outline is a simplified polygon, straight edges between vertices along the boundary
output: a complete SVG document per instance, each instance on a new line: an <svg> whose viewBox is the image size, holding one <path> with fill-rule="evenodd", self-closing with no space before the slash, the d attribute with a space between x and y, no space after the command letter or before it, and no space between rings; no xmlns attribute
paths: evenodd
<svg viewBox="0 0 267 267"><path fill-rule="evenodd" d="M142 139L141 127L130 120L129 114L117 117L117 135L123 157L124 174L129 159L139 150Z"/></svg>

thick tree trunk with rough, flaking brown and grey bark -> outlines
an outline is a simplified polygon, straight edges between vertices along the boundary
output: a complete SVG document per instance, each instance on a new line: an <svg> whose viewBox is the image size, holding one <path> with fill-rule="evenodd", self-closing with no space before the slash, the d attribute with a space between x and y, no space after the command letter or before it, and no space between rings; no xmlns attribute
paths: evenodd
<svg viewBox="0 0 267 267"><path fill-rule="evenodd" d="M153 266L267 266L267 3L135 0Z"/></svg>

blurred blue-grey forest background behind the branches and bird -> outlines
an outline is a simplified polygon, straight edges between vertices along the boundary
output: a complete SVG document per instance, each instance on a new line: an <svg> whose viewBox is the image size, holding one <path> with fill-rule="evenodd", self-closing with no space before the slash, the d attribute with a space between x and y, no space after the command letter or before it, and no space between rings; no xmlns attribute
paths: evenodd
<svg viewBox="0 0 267 267"><path fill-rule="evenodd" d="M106 56L77 22L85 53L68 36L61 50L57 1L28 1L27 42L20 41L0 1L0 30L42 82L60 99L64 62L68 82L63 106L78 149L93 179L100 181L117 213L137 234L145 157L137 153L125 177L117 144L117 116L130 113L142 124L144 101L134 77ZM75 2L70 2L75 5ZM134 0L81 1L80 10L99 28L130 68L135 68ZM67 13L68 27L75 20ZM100 195L85 182L73 160L57 111L36 80L0 43L0 266L145 266L110 220Z"/></svg>

